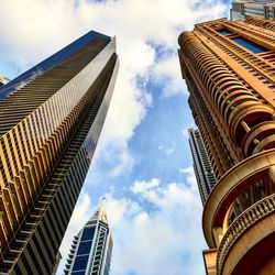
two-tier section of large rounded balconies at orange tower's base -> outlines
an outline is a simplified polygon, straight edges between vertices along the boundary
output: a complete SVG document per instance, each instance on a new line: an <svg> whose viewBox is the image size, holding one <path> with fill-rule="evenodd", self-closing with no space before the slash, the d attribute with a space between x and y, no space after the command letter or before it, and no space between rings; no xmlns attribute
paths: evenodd
<svg viewBox="0 0 275 275"><path fill-rule="evenodd" d="M265 180L268 194L233 220L232 209L251 187ZM202 217L208 274L272 274L275 270L275 150L248 157L212 189Z"/></svg>

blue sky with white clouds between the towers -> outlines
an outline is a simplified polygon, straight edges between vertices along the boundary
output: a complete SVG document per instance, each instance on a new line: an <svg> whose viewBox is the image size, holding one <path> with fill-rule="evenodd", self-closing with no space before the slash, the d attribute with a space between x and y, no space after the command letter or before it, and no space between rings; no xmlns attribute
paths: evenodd
<svg viewBox="0 0 275 275"><path fill-rule="evenodd" d="M224 0L1 0L0 73L10 79L90 30L117 37L119 75L58 275L102 196L114 237L110 275L205 274L177 37L229 9Z"/></svg>

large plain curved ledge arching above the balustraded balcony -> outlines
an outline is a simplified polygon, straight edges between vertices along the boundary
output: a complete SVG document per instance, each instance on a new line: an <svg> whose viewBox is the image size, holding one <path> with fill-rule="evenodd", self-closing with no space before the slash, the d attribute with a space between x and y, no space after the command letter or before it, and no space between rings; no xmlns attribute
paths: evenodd
<svg viewBox="0 0 275 275"><path fill-rule="evenodd" d="M239 195L258 179L272 175L274 182L274 166L275 150L267 150L240 162L216 184L206 201L202 216L205 238L211 249L219 248L220 238L226 231L227 215Z"/></svg>

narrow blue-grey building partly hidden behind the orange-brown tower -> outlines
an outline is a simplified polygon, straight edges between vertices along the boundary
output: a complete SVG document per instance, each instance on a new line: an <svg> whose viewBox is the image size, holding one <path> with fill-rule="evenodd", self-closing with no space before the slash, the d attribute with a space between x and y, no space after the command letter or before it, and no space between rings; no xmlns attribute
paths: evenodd
<svg viewBox="0 0 275 275"><path fill-rule="evenodd" d="M198 129L189 129L189 145L194 161L194 172L202 205L216 184L216 176Z"/></svg>

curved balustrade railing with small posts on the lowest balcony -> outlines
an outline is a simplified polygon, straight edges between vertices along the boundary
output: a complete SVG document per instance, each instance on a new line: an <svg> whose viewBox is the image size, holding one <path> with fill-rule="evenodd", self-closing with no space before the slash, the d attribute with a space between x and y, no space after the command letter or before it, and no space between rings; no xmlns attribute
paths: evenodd
<svg viewBox="0 0 275 275"><path fill-rule="evenodd" d="M242 212L229 227L219 245L217 272L221 274L224 260L239 237L258 220L275 211L275 194L257 201Z"/></svg>

